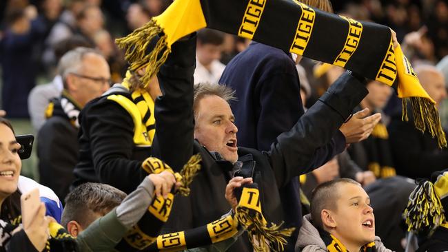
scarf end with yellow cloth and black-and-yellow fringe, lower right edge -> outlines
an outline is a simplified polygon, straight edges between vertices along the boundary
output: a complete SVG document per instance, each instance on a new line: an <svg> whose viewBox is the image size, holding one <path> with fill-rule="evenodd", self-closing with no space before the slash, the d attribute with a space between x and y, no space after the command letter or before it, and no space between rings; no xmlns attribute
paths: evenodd
<svg viewBox="0 0 448 252"><path fill-rule="evenodd" d="M420 180L405 209L407 230L428 235L437 227L448 228L448 169L436 171L431 181Z"/></svg>

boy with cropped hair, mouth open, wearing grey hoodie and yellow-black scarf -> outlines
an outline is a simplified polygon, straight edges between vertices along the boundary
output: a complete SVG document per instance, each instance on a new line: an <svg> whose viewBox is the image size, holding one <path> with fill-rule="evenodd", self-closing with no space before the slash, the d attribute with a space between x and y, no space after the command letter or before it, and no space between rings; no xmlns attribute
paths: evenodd
<svg viewBox="0 0 448 252"><path fill-rule="evenodd" d="M374 209L363 187L349 178L319 185L311 214L303 217L296 251L390 251L375 236Z"/></svg>

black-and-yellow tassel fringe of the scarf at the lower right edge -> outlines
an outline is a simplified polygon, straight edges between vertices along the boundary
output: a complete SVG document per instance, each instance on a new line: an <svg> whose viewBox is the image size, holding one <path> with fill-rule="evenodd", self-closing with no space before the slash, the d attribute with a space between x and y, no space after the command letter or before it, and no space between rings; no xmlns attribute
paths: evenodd
<svg viewBox="0 0 448 252"><path fill-rule="evenodd" d="M409 202L403 214L407 231L431 231L445 222L445 214L434 185L430 181L420 185L409 196Z"/></svg>

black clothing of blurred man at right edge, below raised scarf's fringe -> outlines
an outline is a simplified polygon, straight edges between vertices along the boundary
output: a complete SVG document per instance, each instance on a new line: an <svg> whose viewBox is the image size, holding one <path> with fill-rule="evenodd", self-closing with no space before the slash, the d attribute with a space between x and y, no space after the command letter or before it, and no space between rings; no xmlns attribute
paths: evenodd
<svg viewBox="0 0 448 252"><path fill-rule="evenodd" d="M447 149L438 149L437 141L415 129L413 121L394 119L389 125L389 140L398 174L429 178L434 171L447 168Z"/></svg>

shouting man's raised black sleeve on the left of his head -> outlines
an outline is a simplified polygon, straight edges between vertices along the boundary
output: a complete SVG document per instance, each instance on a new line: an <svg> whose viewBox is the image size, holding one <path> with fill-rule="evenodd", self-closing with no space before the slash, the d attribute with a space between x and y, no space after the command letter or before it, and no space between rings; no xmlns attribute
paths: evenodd
<svg viewBox="0 0 448 252"><path fill-rule="evenodd" d="M156 134L152 154L174 171L179 171L193 154L195 64L196 36L174 43L157 74L163 95L155 103Z"/></svg>

